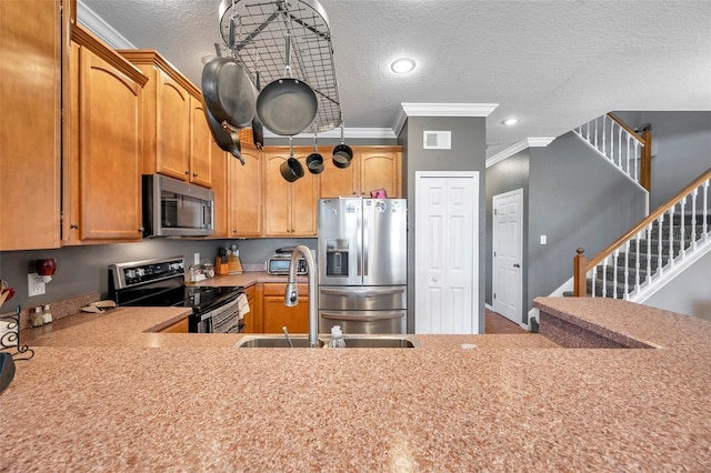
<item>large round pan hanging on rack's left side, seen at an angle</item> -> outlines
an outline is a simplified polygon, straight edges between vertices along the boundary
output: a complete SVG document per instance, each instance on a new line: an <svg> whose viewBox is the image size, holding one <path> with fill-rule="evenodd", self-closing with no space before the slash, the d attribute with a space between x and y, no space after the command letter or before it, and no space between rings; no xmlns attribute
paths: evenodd
<svg viewBox="0 0 711 473"><path fill-rule="evenodd" d="M202 94L218 122L249 127L257 92L247 71L231 58L213 58L202 68Z"/></svg>

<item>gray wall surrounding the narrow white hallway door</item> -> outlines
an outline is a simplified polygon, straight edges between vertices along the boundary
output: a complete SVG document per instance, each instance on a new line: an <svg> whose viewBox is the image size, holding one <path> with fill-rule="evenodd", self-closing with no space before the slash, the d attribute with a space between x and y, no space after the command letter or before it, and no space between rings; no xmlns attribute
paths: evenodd
<svg viewBox="0 0 711 473"><path fill-rule="evenodd" d="M493 197L523 189L523 248L521 254L521 271L523 284L521 284L521 301L519 306L525 308L528 304L528 254L529 241L528 213L529 213L529 150L525 149L490 168L487 168L487 304L493 304ZM528 312L528 311L527 311ZM527 321L527 314L523 315Z"/></svg>

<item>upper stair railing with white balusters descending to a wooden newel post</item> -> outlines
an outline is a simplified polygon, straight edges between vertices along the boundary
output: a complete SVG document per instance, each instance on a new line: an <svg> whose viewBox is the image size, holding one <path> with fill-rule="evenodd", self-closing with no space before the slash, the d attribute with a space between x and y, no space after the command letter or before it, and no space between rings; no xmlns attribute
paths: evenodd
<svg viewBox="0 0 711 473"><path fill-rule="evenodd" d="M605 155L632 181L650 190L651 125L645 125L640 135L613 113L607 113L573 129L573 132Z"/></svg>

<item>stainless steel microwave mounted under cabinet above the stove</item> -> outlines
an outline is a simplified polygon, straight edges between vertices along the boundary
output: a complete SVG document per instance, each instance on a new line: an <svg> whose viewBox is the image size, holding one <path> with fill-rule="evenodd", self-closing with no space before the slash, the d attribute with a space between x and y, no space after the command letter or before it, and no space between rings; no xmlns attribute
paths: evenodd
<svg viewBox="0 0 711 473"><path fill-rule="evenodd" d="M143 174L143 236L214 233L214 193L160 174Z"/></svg>

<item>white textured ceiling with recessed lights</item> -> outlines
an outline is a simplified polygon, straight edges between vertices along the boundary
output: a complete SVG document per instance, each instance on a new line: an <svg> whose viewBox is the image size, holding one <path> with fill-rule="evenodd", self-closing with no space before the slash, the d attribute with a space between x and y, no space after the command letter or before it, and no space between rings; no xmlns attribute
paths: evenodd
<svg viewBox="0 0 711 473"><path fill-rule="evenodd" d="M319 1L347 137L392 133L401 103L498 103L491 157L611 110L711 110L711 0ZM221 41L219 0L79 2L81 22L96 13L198 85ZM120 37L104 39L124 47ZM392 74L399 56L417 69Z"/></svg>

